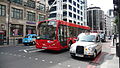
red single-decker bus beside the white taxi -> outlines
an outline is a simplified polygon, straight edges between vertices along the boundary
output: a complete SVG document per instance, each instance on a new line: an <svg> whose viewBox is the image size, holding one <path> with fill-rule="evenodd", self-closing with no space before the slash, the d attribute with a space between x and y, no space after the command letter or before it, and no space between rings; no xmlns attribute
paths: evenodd
<svg viewBox="0 0 120 68"><path fill-rule="evenodd" d="M37 24L36 48L47 50L68 49L78 34L90 30L88 26L61 20L45 20Z"/></svg>

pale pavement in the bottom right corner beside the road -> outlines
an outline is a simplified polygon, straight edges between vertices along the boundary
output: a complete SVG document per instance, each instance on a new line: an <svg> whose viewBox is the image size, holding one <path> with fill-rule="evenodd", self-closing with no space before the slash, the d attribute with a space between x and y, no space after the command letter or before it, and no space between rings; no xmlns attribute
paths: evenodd
<svg viewBox="0 0 120 68"><path fill-rule="evenodd" d="M117 40L116 43L118 42L119 40ZM113 58L110 60L106 60L103 64L100 65L100 68L119 68L119 57L116 55L116 46L113 46L112 40L110 43L110 49L111 50L109 54L114 55Z"/></svg>

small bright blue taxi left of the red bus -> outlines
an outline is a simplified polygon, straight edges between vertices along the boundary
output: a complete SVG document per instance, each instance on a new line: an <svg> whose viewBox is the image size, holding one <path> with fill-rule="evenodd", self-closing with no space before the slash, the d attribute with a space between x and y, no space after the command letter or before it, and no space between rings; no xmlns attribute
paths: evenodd
<svg viewBox="0 0 120 68"><path fill-rule="evenodd" d="M23 42L24 45L35 45L36 44L36 42L35 42L36 38L37 38L36 34L28 34L23 38L22 42Z"/></svg>

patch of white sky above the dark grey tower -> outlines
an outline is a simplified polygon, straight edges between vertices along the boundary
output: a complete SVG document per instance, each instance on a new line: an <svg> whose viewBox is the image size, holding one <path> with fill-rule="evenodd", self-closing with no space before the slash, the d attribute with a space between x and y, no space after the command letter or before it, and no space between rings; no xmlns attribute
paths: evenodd
<svg viewBox="0 0 120 68"><path fill-rule="evenodd" d="M109 9L113 9L113 0L87 0L87 2L88 7L91 6L91 4L93 4L92 6L100 7L102 10L105 11L105 13Z"/></svg>

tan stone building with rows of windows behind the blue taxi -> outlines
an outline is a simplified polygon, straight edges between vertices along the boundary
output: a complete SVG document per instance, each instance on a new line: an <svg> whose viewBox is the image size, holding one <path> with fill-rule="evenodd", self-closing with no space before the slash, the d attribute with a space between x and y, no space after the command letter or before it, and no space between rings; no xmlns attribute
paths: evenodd
<svg viewBox="0 0 120 68"><path fill-rule="evenodd" d="M45 19L45 3L37 0L0 0L0 30L6 39L36 33L36 22Z"/></svg>

